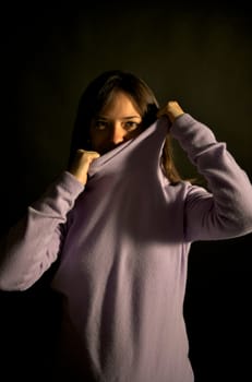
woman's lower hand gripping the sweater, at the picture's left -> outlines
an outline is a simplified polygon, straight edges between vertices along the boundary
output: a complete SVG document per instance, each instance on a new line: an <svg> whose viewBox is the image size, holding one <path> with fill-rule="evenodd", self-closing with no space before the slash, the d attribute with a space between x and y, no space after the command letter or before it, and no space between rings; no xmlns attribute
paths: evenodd
<svg viewBox="0 0 252 382"><path fill-rule="evenodd" d="M77 150L69 172L72 174L82 184L86 184L88 168L92 162L99 156L100 155L96 152L87 152L81 148Z"/></svg>

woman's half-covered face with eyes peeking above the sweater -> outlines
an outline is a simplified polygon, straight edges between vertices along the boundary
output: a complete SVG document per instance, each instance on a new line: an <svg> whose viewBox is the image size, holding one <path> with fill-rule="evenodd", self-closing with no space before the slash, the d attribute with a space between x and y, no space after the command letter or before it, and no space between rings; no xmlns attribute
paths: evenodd
<svg viewBox="0 0 252 382"><path fill-rule="evenodd" d="M137 136L142 131L141 122L142 117L131 98L125 93L116 93L112 100L92 121L92 150L103 155Z"/></svg>

